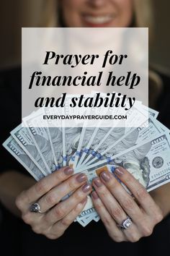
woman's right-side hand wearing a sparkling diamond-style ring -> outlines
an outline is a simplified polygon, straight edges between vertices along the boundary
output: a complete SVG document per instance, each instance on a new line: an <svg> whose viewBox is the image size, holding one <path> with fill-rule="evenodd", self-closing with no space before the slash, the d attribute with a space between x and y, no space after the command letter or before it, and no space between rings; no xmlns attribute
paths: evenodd
<svg viewBox="0 0 170 256"><path fill-rule="evenodd" d="M109 171L103 171L93 181L94 207L115 242L137 242L142 236L152 234L153 227L162 220L163 215L146 189L128 171L119 167L115 174L132 192L135 200L115 176ZM120 229L128 216L132 224L127 229Z"/></svg>

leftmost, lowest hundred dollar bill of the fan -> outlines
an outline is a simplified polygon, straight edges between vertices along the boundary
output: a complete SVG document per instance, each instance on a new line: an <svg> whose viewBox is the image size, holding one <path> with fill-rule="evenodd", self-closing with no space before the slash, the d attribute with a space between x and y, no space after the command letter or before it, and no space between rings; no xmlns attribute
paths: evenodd
<svg viewBox="0 0 170 256"><path fill-rule="evenodd" d="M11 153L14 158L19 161L19 163L24 166L24 168L32 175L36 181L42 179L45 174L42 174L39 168L35 165L35 163L30 159L30 157L22 150L19 144L14 140L12 136L10 136L4 143L4 148Z"/></svg>

